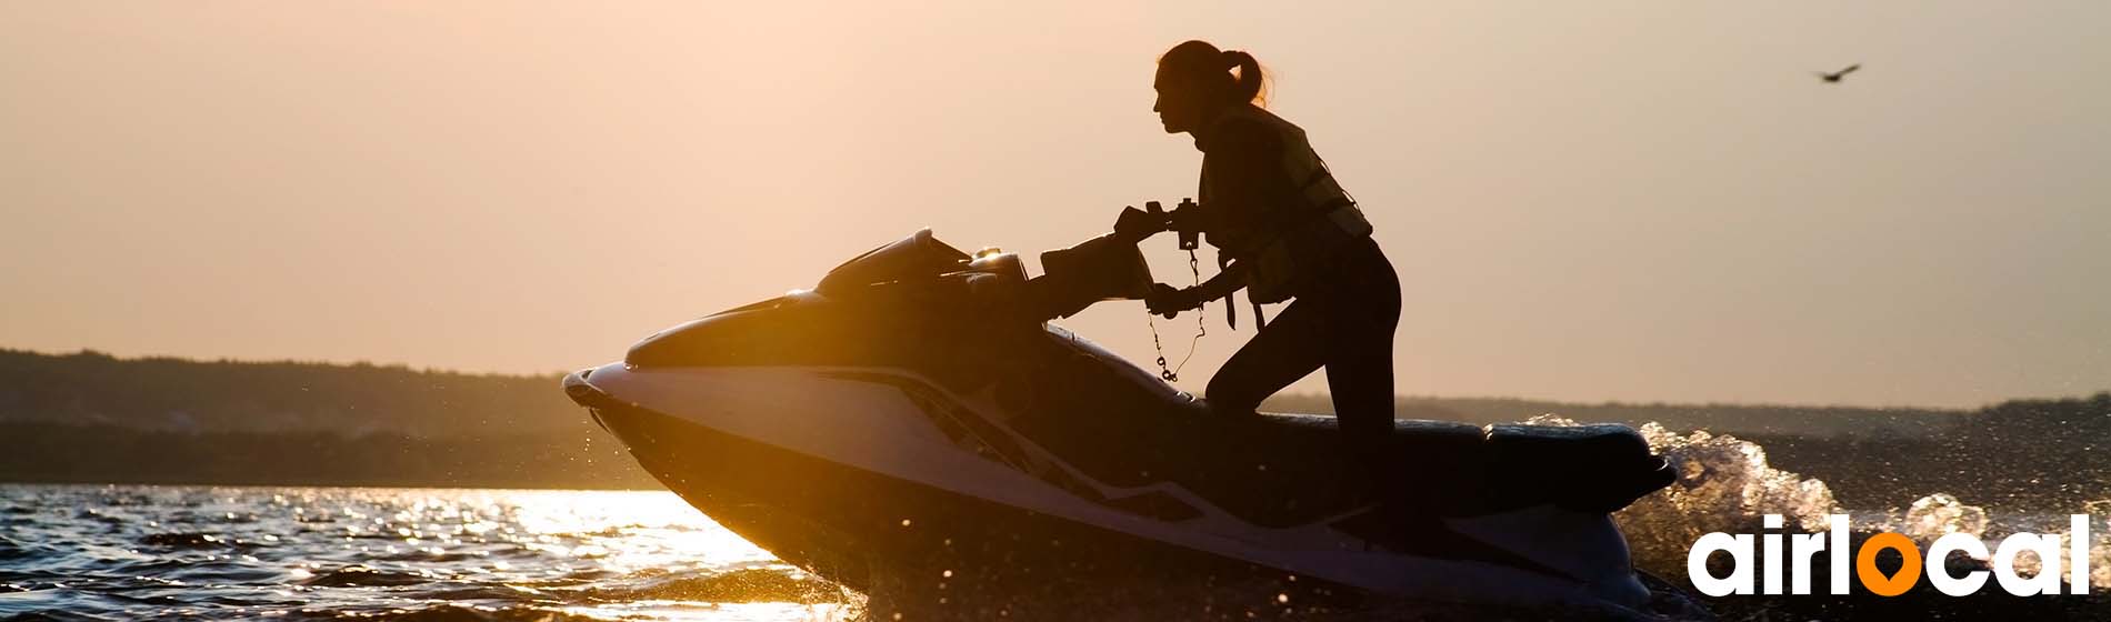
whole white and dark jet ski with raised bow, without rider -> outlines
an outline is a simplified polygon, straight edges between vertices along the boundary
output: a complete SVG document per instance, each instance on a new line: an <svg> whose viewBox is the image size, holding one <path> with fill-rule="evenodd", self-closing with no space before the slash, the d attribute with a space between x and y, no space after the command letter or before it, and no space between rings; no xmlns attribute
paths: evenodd
<svg viewBox="0 0 2111 622"><path fill-rule="evenodd" d="M811 291L654 333L564 392L707 517L855 590L1651 599L1609 512L1674 472L1632 428L1400 420L1374 495L1332 417L1216 413L1049 323L1140 297L1134 242L1043 268L923 230Z"/></svg>

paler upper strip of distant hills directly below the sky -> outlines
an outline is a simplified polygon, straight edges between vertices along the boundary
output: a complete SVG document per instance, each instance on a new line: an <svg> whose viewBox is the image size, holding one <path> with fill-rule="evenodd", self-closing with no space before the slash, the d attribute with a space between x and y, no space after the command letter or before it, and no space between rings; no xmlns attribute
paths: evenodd
<svg viewBox="0 0 2111 622"><path fill-rule="evenodd" d="M403 432L475 436L490 430L572 430L585 411L559 375L496 375L403 365L302 361L118 358L95 350L42 354L0 348L0 424L68 422L190 432ZM1332 413L1326 394L1277 394L1264 409ZM1820 407L1756 403L1558 403L1492 396L1395 396L1397 417L1469 424L1556 413L1577 422L1659 422L1733 434L1919 436L1970 409Z"/></svg>

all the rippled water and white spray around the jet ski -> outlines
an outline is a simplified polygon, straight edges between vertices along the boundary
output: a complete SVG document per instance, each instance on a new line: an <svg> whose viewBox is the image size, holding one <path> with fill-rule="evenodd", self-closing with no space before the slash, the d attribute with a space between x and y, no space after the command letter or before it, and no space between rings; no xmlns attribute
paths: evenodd
<svg viewBox="0 0 2111 622"><path fill-rule="evenodd" d="M2065 514L2008 512L1940 491L1908 508L1847 510L1853 500L1769 466L1758 445L1655 424L1642 434L1680 468L1680 481L1615 519L1636 565L1680 584L1695 538L1761 533L1761 514L1815 531L1824 514L1845 512L1860 536L1898 531L1921 546L1955 531L1986 542L2016 531L2067 536ZM2071 512L2092 514L2090 582L2111 588L2111 502ZM2037 563L2018 567L2033 574ZM1195 611L1174 603L1178 586L1140 588L1142 597L1106 595L1085 618L1165 620L1165 611L1140 609L1153 601ZM2039 618L2111 618L2111 601L2096 595L1889 601L1900 611L1982 603L1986 611L2031 605ZM866 595L777 561L665 491L0 485L0 620L859 620L868 605ZM1706 605L1727 618L1889 614L1851 599ZM1389 611L1400 616L1376 618L1499 614ZM1511 614L1495 618L1545 618Z"/></svg>

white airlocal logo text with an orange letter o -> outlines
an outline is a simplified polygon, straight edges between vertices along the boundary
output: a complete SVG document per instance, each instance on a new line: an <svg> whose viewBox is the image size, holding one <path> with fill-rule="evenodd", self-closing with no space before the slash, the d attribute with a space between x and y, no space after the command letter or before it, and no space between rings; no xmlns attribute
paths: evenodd
<svg viewBox="0 0 2111 622"><path fill-rule="evenodd" d="M1782 514L1767 514L1767 517L1763 517L1763 521L1765 521L1763 525L1767 529L1780 529L1782 527ZM1716 531L1716 533L1701 536L1699 542L1693 542L1693 550L1687 550L1687 580L1691 580L1695 588L1699 588L1704 595L1710 595L1710 597L1752 595L1754 592L1754 578L1752 578L1752 574L1754 574L1754 567L1758 565L1756 561L1765 561L1763 563L1763 569L1765 569L1763 586L1756 586L1763 595L1780 595L1782 592L1782 569L1784 567L1790 569L1788 592L1790 595L1809 595L1811 592L1811 571L1809 571L1811 569L1811 557L1815 557L1820 552L1828 552L1828 550L1830 552L1843 552L1843 550L1847 550L1847 514L1830 514L1830 517L1826 517L1826 521L1830 525L1830 529L1826 529L1828 533L1765 533L1765 536L1761 536L1758 540L1761 540L1761 550L1763 552L1758 555L1758 559L1754 559L1754 555L1752 555L1752 536L1750 533L1731 536L1731 533ZM2090 542L2090 517L2088 514L2073 514L2073 517L2069 517L2069 527L2071 527L2071 531L2069 531L2069 540L2071 540L2069 548L2071 550L2069 550L2069 557L2067 557L2069 559L2069 567L2067 567L2069 595L2088 595L2088 590L2090 590L2090 550L2088 550L2088 542ZM1786 559L1782 557L1782 540L1784 540L1784 536L1788 540L1788 557ZM1898 555L1904 557L1906 563L1898 567L1898 574L1885 576L1881 569L1877 569L1877 552L1885 550L1885 548L1898 550ZM1731 561L1735 563L1735 569L1727 578L1716 578L1716 576L1708 574L1708 555L1714 555L1716 550L1729 552ZM1860 580L1864 588L1868 588L1870 592L1875 592L1879 597L1898 597L1898 595L1904 595L1906 590L1913 588L1913 584L1917 584L1921 580L1923 571L1927 574L1927 582L1932 582L1936 586L1936 590L1940 590L1944 595L1963 597L1963 595L1978 592L1982 586L1986 586L1986 574L1989 571L1974 569L1974 571L1965 571L1965 574L1959 574L1959 576L1951 576L1948 567L1944 567L1942 561L1951 552L1955 552L1955 550L1963 550L1965 555L1970 555L1974 559L1989 559L1986 542L1980 542L1980 538L1972 536L1972 533L1948 533L1948 536L1936 538L1936 542L1929 544L1927 552L1923 555L1921 548L1919 548L1919 544L1915 544L1910 538L1900 536L1900 533L1891 533L1891 531L1883 531L1883 533L1877 533L1877 536L1864 540L1862 548L1856 550L1856 555L1853 555L1853 578ZM2037 576L2029 576L2027 578L2027 576L2018 576L2016 574L2016 555L2024 552L2024 550L2037 552L2037 559L2041 563ZM1847 559L1849 557L1847 555L1830 555L1830 552L1826 555L1826 561L1832 563L1830 571L1828 571L1828 578L1832 582L1830 588L1832 588L1834 595L1847 595ZM2060 592L2060 536L2058 533L2054 533L2054 536L2039 536L2039 533L2008 536L1993 550L1991 561L1993 561L1993 578L1995 578L1995 582L1999 582L2001 588L2008 590L2010 595L2033 597L2033 595L2058 595Z"/></svg>

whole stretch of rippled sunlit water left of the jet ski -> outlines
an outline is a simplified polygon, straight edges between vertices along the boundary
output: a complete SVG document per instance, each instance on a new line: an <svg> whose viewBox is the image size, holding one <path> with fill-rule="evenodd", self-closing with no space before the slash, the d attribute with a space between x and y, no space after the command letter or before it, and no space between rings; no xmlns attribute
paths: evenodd
<svg viewBox="0 0 2111 622"><path fill-rule="evenodd" d="M0 618L844 620L665 491L0 485Z"/></svg>

